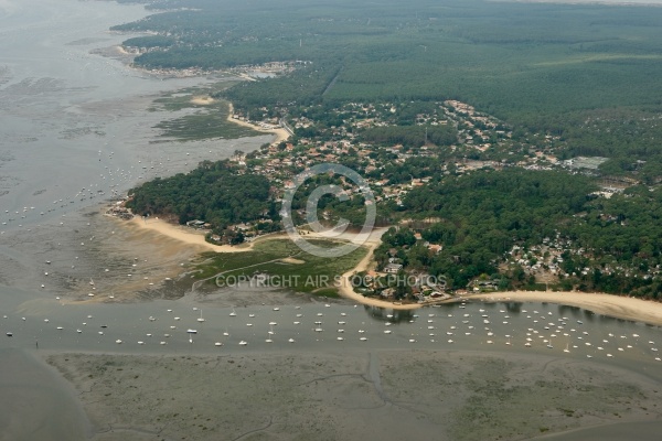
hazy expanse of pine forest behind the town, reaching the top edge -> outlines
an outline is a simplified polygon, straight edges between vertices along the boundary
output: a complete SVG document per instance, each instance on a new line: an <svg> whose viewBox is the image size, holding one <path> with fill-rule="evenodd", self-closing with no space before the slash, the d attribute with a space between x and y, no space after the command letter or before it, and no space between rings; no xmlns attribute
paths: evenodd
<svg viewBox="0 0 662 441"><path fill-rule="evenodd" d="M570 154L660 172L662 8L480 0L157 0L116 26L149 68L223 69L302 61L290 75L224 95L246 110L311 103L459 99L516 127L563 137ZM287 109L285 109L287 108Z"/></svg>

